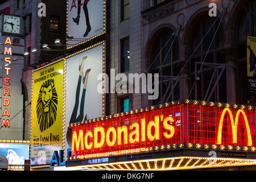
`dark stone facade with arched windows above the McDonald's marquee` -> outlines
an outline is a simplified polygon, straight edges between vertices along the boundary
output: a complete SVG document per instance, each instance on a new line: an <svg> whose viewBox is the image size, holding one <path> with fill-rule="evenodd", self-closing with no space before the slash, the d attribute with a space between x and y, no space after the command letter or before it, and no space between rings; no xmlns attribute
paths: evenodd
<svg viewBox="0 0 256 182"><path fill-rule="evenodd" d="M241 80L246 79L246 36L254 36L253 2L214 2L215 18L209 16L211 1L125 3L111 7L112 68L122 72L122 46L129 40L130 64L124 73L157 72L160 78L158 100L127 94L130 109L180 99L254 105ZM113 95L112 114L122 97Z"/></svg>

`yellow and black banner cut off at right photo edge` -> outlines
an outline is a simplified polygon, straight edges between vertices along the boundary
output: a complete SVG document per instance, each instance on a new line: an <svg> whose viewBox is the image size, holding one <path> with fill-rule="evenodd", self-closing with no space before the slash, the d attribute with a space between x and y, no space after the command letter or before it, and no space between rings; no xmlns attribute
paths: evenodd
<svg viewBox="0 0 256 182"><path fill-rule="evenodd" d="M256 38L247 37L247 80L249 86L249 94L256 95Z"/></svg>

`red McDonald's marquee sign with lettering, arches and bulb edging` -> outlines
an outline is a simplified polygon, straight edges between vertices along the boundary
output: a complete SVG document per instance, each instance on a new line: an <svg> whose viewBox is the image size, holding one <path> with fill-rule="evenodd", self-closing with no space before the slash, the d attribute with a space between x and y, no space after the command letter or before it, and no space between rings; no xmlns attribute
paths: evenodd
<svg viewBox="0 0 256 182"><path fill-rule="evenodd" d="M68 125L72 157L121 155L175 146L256 147L256 109L175 101Z"/></svg>

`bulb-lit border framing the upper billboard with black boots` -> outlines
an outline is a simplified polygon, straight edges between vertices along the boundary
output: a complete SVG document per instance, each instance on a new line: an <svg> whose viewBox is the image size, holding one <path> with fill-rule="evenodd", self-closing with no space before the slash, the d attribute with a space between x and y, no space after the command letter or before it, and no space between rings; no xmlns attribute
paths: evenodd
<svg viewBox="0 0 256 182"><path fill-rule="evenodd" d="M69 0L67 0L67 31L66 31L67 34L66 35L68 35L68 1ZM97 37L99 37L101 35L106 34L106 0L103 0L103 22L102 23L103 23L103 32L93 36L92 38L89 38L89 39L86 39L84 41L81 41L80 43L77 43L77 44L75 44L73 46L70 46L70 47L68 47L68 39L67 39L66 40L67 49L71 49L71 48L74 48L76 46L80 46L81 44L84 44L86 42L89 42L90 40L93 40L93 39L95 39L95 38L97 38Z"/></svg>

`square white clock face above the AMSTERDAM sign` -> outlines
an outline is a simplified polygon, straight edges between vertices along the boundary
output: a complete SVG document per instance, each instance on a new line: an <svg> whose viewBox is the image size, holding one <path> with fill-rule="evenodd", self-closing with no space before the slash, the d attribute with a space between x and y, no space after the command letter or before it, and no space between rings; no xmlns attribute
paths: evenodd
<svg viewBox="0 0 256 182"><path fill-rule="evenodd" d="M3 15L3 32L19 34L20 33L20 17Z"/></svg>

